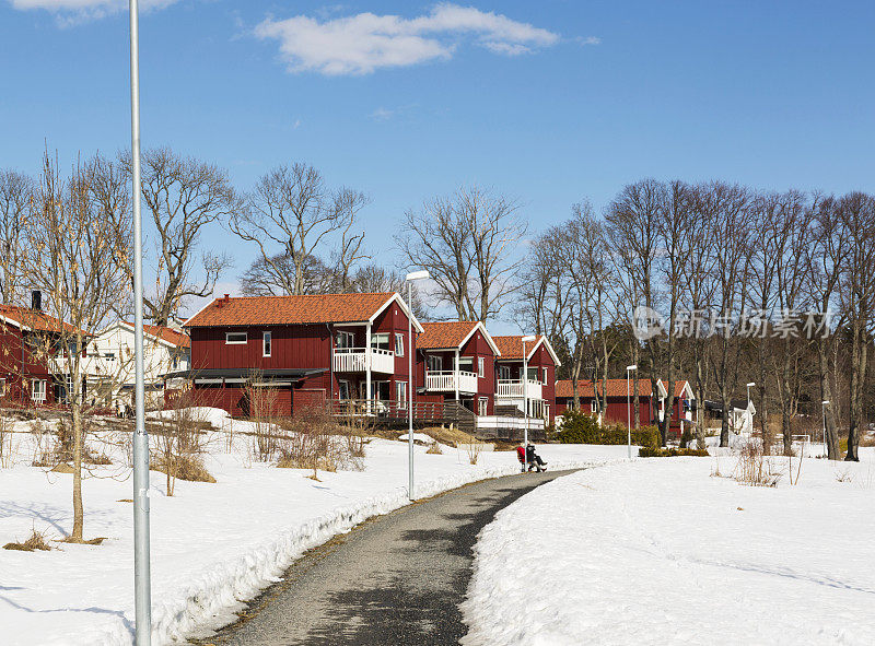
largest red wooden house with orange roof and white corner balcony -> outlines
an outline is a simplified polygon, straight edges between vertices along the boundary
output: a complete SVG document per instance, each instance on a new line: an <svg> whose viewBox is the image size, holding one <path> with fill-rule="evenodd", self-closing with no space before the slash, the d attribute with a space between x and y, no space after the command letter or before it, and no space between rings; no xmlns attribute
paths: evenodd
<svg viewBox="0 0 875 646"><path fill-rule="evenodd" d="M225 295L184 327L196 401L234 415L248 415L266 387L277 414L326 400L404 403L407 353L422 331L397 293Z"/></svg>

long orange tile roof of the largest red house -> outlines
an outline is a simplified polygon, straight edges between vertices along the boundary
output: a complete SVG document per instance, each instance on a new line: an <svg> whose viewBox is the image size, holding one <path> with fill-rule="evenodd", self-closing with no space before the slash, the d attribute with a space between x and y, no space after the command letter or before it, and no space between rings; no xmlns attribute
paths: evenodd
<svg viewBox="0 0 875 646"><path fill-rule="evenodd" d="M185 327L364 321L393 296L395 292L217 298L188 319Z"/></svg>

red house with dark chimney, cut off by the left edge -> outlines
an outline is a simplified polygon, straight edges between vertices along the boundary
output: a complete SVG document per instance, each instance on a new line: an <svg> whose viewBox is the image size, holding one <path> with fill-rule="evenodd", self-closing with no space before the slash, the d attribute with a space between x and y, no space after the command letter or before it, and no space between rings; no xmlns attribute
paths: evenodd
<svg viewBox="0 0 875 646"><path fill-rule="evenodd" d="M8 404L63 400L67 378L55 357L65 349L57 341L62 329L74 328L43 312L40 303L42 295L34 292L31 307L0 305L0 399Z"/></svg>

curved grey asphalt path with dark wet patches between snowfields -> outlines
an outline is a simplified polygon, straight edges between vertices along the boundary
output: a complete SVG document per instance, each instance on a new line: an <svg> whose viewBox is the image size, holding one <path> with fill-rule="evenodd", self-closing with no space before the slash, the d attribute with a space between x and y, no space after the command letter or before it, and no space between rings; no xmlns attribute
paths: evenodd
<svg viewBox="0 0 875 646"><path fill-rule="evenodd" d="M565 473L476 482L368 520L307 552L240 621L200 644L457 644L480 529Z"/></svg>

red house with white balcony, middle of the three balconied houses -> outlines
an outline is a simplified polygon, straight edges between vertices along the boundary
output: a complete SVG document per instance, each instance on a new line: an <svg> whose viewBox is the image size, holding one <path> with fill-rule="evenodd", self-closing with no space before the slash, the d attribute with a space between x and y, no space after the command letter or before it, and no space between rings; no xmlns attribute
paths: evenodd
<svg viewBox="0 0 875 646"><path fill-rule="evenodd" d="M419 401L458 401L475 414L493 415L498 345L477 321L422 324L417 339Z"/></svg>

